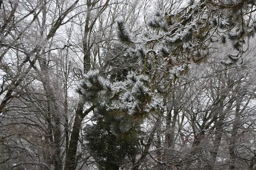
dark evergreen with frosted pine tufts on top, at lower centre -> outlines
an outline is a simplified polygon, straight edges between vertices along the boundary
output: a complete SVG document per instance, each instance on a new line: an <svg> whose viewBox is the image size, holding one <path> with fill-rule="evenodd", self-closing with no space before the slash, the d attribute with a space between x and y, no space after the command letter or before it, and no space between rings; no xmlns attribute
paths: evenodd
<svg viewBox="0 0 256 170"><path fill-rule="evenodd" d="M84 127L84 139L100 169L118 170L136 157L143 120L163 107L149 85L148 77L134 72L111 83L99 71L89 71L78 85L81 100L95 107L95 124Z"/></svg>

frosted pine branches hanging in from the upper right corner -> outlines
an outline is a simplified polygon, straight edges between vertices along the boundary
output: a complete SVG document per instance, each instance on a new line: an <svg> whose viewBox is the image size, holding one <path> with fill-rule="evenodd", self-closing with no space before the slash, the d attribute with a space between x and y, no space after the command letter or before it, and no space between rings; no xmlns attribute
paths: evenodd
<svg viewBox="0 0 256 170"><path fill-rule="evenodd" d="M226 37L228 43L233 44L234 49L241 51L245 39L255 31L252 27L253 18L251 15L249 18L246 17L247 13L251 14L252 9L253 3L249 1L231 3L231 1L192 0L184 7L164 14L155 12L154 17L148 20L148 26L154 31L154 37L145 34L143 38L145 41L137 43L140 45L145 42L154 43L154 47L159 47L159 50L155 51L157 53L155 56L160 56L163 60L169 57L166 71L172 66L187 69L187 64L191 61L200 63L207 59L212 43L218 40L226 43ZM120 27L120 23L117 25ZM118 32L119 35L126 34L123 23L122 29L120 28ZM163 50L165 48L169 50ZM147 59L149 61L144 65L145 70L155 69L152 68L154 59L150 56Z"/></svg>

